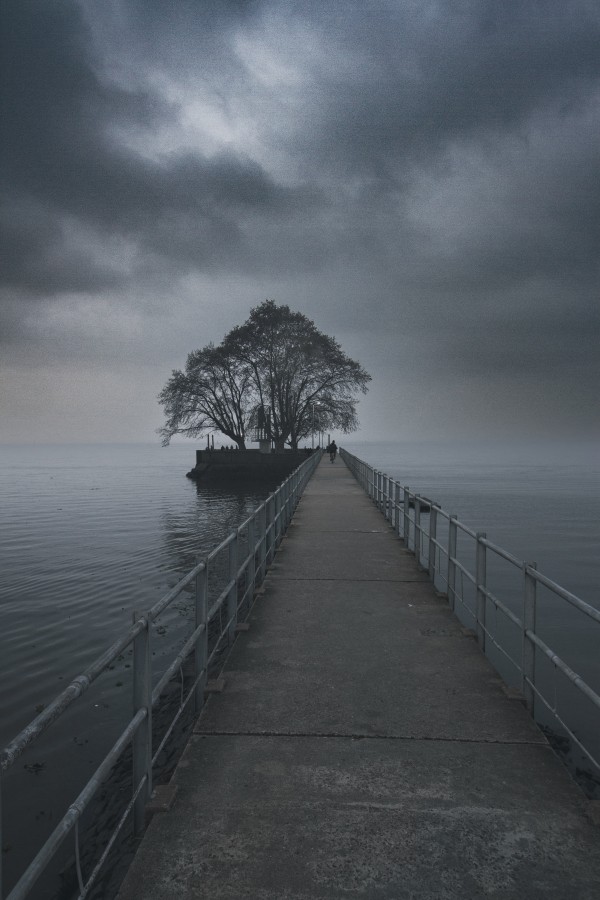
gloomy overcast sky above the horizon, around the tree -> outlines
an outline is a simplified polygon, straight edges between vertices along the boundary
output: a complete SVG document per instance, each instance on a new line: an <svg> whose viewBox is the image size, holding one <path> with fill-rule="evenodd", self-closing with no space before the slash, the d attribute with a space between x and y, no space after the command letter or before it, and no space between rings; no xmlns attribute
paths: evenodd
<svg viewBox="0 0 600 900"><path fill-rule="evenodd" d="M0 9L0 441L158 441L266 298L361 439L597 431L597 0Z"/></svg>

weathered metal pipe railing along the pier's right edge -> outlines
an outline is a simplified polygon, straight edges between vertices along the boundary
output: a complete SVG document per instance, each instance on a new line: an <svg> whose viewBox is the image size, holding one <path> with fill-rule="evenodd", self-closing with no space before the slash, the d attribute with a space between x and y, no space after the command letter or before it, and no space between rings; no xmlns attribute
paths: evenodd
<svg viewBox="0 0 600 900"><path fill-rule="evenodd" d="M520 679L521 693L530 713L532 715L535 714L535 700L539 699L592 765L600 771L600 763L596 759L592 748L585 744L581 735L576 734L575 726L569 722L570 710L563 712L558 709L556 700L552 702L544 694L540 679L536 677L537 650L551 661L554 671L560 672L568 680L569 684L573 685L582 696L592 703L594 711L600 712L600 696L598 693L585 682L581 675L567 665L554 650L548 647L537 634L538 588L542 586L555 597L564 600L586 616L590 624L600 623L600 610L595 609L580 597L565 590L555 581L538 572L535 563L525 563L519 560L512 553L488 540L485 532L473 531L463 522L460 522L455 515L451 515L438 504L430 503L430 501L427 501L429 504L429 528L426 529L422 519L423 497L413 493L408 486L401 485L370 466L364 460L348 453L348 451L341 449L340 455L358 483L373 500L375 506L392 524L395 523L395 533L404 541L404 546L415 554L419 565L422 565L422 554L426 540L426 565L431 580L435 584L437 575L439 581L445 584L445 594L450 608L456 611L457 604L460 605L464 610L464 614L468 615L473 621L482 651L489 655L489 645L491 644L516 669ZM440 520L442 519L447 522L446 544L438 539ZM400 521L402 521L402 528L399 527ZM465 562L463 554L459 553L460 535L464 535L475 542L474 560L471 563L472 569L469 568L469 563ZM446 559L445 576L442 574L442 557ZM508 563L512 569L521 572L520 616L514 610L511 610L506 603L498 599L489 589L488 569L490 557L502 560ZM465 581L473 596L472 606L469 606L465 600ZM521 658L519 660L515 659L514 655L500 643L496 635L492 634L487 623L488 612L491 610L494 610L496 614L501 613L506 621L520 631ZM599 731L600 715L598 716L596 733Z"/></svg>

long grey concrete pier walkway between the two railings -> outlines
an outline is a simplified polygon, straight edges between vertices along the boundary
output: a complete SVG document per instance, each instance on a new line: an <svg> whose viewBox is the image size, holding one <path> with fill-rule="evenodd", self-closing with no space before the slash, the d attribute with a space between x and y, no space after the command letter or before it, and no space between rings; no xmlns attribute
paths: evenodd
<svg viewBox="0 0 600 900"><path fill-rule="evenodd" d="M597 900L600 828L341 460L309 483L120 900Z"/></svg>

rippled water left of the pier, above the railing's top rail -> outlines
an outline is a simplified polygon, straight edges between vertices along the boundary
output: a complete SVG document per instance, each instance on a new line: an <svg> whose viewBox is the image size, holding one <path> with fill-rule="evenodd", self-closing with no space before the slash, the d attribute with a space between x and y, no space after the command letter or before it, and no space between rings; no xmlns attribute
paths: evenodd
<svg viewBox="0 0 600 900"><path fill-rule="evenodd" d="M2 448L2 743L275 487L192 482L192 455Z"/></svg>

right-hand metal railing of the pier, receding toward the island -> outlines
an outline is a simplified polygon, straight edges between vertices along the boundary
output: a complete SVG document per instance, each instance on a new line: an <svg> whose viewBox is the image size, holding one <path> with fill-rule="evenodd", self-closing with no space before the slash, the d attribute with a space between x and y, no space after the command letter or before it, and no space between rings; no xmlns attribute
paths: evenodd
<svg viewBox="0 0 600 900"><path fill-rule="evenodd" d="M415 554L418 565L447 597L450 608L471 625L481 650L496 668L512 673L511 680L531 715L544 718L545 711L545 717L560 726L600 773L600 695L565 661L565 654L542 637L538 595L543 589L551 598L548 603L558 600L581 614L583 629L600 625L600 610L547 578L534 562L519 560L489 541L485 532L473 531L430 499L348 451L340 452L396 535ZM492 590L492 576L501 586L508 583L508 574L498 575L500 565L513 573L513 584L504 590L503 599ZM545 631L550 634L552 629ZM600 640L600 629L597 636ZM559 637L555 633L553 639ZM559 679L570 690L561 689ZM579 702L585 702L584 725L574 722Z"/></svg>

